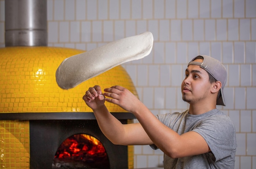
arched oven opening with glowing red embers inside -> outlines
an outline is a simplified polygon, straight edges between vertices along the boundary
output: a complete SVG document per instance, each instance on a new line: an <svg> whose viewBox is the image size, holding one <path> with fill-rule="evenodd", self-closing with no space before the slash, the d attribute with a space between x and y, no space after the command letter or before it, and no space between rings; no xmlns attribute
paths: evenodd
<svg viewBox="0 0 256 169"><path fill-rule="evenodd" d="M105 148L99 140L86 134L67 138L58 148L53 169L110 168Z"/></svg>

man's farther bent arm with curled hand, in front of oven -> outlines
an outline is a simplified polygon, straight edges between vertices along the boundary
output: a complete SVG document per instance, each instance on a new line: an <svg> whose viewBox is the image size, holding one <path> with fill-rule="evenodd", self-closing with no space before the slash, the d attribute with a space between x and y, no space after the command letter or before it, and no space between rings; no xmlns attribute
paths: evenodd
<svg viewBox="0 0 256 169"><path fill-rule="evenodd" d="M99 86L89 88L83 96L83 100L92 108L101 131L113 144L153 144L139 123L123 125L117 118L112 116L104 105L105 97L102 95Z"/></svg>

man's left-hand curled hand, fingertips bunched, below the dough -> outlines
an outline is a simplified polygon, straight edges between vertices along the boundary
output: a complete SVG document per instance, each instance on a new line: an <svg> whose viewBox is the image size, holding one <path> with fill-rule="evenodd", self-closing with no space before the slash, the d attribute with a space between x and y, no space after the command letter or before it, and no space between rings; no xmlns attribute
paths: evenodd
<svg viewBox="0 0 256 169"><path fill-rule="evenodd" d="M86 105L94 110L104 105L105 96L102 94L101 87L95 85L94 87L90 87L88 91L85 92L83 100L85 101Z"/></svg>

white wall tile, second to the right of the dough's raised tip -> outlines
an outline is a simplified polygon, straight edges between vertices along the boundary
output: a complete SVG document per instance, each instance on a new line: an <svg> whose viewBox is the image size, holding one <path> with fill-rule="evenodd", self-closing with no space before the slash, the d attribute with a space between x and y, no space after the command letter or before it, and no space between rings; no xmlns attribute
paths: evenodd
<svg viewBox="0 0 256 169"><path fill-rule="evenodd" d="M175 63L176 62L176 43L166 42L165 43L165 63Z"/></svg>

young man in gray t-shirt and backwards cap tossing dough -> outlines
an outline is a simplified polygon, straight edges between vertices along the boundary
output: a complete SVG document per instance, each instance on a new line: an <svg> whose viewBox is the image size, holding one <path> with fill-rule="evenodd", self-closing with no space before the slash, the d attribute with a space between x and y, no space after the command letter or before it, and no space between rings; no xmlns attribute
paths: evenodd
<svg viewBox="0 0 256 169"><path fill-rule="evenodd" d="M183 113L154 116L128 89L89 88L83 96L104 135L117 145L150 145L164 152L164 168L234 169L236 131L216 105L224 105L225 67L210 56L189 62L181 85L182 99L190 104ZM171 93L169 93L171 94ZM106 96L106 97L105 97ZM122 125L104 102L133 113L139 123Z"/></svg>

